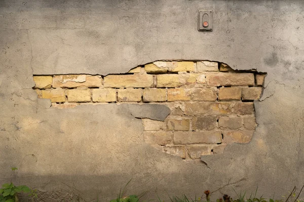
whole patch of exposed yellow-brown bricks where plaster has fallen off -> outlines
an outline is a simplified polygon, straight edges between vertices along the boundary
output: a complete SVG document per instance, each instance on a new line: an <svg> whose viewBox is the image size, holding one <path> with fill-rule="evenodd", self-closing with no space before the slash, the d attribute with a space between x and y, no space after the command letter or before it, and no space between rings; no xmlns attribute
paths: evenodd
<svg viewBox="0 0 304 202"><path fill-rule="evenodd" d="M199 161L232 143L248 143L256 122L253 100L265 73L234 71L210 61L156 61L119 75L34 75L39 98L53 108L145 103L171 109L165 121L142 118L143 139L161 151Z"/></svg>

